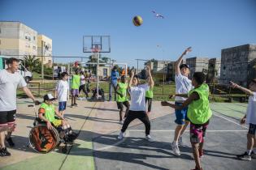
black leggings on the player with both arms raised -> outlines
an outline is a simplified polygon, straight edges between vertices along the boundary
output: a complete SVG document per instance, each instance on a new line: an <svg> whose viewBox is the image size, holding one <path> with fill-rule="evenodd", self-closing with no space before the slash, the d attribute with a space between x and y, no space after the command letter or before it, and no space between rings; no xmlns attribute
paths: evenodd
<svg viewBox="0 0 256 170"><path fill-rule="evenodd" d="M129 110L128 116L124 120L124 125L122 127L122 132L124 133L125 130L128 128L128 125L134 120L134 119L140 119L144 125L145 125L145 135L150 134L150 119L145 113L145 111L132 111Z"/></svg>

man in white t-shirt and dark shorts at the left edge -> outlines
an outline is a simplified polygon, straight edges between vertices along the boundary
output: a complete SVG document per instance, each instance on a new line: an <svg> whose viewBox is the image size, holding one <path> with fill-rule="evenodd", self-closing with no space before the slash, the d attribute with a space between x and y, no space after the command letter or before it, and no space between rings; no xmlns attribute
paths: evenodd
<svg viewBox="0 0 256 170"><path fill-rule="evenodd" d="M7 142L10 147L14 147L15 143L11 139L11 132L15 129L15 113L16 113L16 90L21 87L26 95L39 104L35 97L28 89L27 83L21 74L17 72L19 69L19 60L9 58L7 60L7 70L0 70L0 155L10 156L5 146L5 132L7 134Z"/></svg>

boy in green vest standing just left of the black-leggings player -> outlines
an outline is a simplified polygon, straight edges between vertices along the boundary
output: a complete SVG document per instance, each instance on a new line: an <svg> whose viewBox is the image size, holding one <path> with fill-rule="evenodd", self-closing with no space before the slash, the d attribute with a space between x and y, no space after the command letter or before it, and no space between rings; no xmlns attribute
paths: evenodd
<svg viewBox="0 0 256 170"><path fill-rule="evenodd" d="M127 117L130 104L128 102L128 96L127 96L127 88L128 83L126 83L125 76L123 75L121 77L121 82L117 83L117 86L115 88L115 92L117 94L117 108L119 109L119 124L123 125L123 111L124 111L124 105L126 107L125 115L124 117Z"/></svg>

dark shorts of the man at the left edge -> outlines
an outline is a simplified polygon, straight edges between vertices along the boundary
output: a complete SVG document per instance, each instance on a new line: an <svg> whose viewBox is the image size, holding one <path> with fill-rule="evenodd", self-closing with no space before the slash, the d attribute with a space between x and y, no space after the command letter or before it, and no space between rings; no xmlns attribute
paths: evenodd
<svg viewBox="0 0 256 170"><path fill-rule="evenodd" d="M0 126L11 125L15 123L16 110L0 111Z"/></svg>

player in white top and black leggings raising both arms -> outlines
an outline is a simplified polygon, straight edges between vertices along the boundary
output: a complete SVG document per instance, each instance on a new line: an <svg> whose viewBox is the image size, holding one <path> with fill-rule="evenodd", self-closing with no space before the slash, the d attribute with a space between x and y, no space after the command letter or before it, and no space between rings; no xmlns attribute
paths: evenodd
<svg viewBox="0 0 256 170"><path fill-rule="evenodd" d="M128 90L131 96L131 106L128 112L128 117L124 120L124 125L118 136L119 139L124 138L124 132L128 128L128 125L134 119L140 119L145 125L145 138L152 142L150 137L150 119L145 113L145 91L148 91L150 87L154 86L154 81L150 73L150 67L147 66L147 71L149 72L149 83L140 84L137 75L134 75L134 70L132 70L132 76L128 83Z"/></svg>

